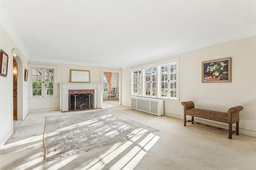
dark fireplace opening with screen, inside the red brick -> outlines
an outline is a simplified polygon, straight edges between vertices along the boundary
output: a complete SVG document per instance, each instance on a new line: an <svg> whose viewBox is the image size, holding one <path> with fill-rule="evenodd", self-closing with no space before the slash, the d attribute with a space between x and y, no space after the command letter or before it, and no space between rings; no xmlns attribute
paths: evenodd
<svg viewBox="0 0 256 170"><path fill-rule="evenodd" d="M93 108L93 94L70 94L70 111Z"/></svg>

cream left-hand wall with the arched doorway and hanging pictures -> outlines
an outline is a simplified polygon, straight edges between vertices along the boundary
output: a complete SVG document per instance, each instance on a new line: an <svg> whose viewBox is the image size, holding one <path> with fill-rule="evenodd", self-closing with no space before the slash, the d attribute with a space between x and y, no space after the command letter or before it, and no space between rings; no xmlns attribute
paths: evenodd
<svg viewBox="0 0 256 170"><path fill-rule="evenodd" d="M6 30L0 26L0 48L8 55L7 77L0 76L0 148L6 143L13 133L13 54L18 54L18 96L17 107L18 119L22 120L28 114L27 83L24 82L24 68L27 60L19 52L18 47L8 35Z"/></svg>

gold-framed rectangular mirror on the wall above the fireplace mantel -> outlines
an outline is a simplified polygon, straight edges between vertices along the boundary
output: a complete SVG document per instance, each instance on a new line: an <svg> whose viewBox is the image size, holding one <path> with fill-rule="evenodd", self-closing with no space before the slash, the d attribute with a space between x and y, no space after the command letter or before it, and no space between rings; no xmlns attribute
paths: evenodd
<svg viewBox="0 0 256 170"><path fill-rule="evenodd" d="M70 70L70 82L90 83L90 70Z"/></svg>

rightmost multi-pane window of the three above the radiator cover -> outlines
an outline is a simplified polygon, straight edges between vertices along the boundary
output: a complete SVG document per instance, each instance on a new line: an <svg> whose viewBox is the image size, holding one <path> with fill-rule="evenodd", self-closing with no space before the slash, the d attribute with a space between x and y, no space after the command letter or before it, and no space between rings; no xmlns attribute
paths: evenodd
<svg viewBox="0 0 256 170"><path fill-rule="evenodd" d="M161 96L176 98L176 63L161 66Z"/></svg>

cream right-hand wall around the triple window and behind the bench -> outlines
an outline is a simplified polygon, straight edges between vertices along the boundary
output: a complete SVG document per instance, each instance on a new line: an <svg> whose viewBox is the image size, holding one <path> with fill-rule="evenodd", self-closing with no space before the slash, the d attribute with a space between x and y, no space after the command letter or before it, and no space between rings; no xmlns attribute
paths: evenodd
<svg viewBox="0 0 256 170"><path fill-rule="evenodd" d="M202 83L202 61L232 58L232 82ZM196 107L228 111L243 106L240 132L256 137L256 37L230 41L182 53L180 59L180 102L164 102L167 116L183 119L183 101L193 100ZM123 68L123 104L131 106L131 71Z"/></svg>

